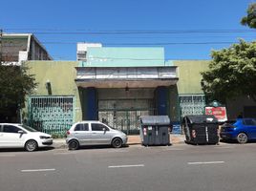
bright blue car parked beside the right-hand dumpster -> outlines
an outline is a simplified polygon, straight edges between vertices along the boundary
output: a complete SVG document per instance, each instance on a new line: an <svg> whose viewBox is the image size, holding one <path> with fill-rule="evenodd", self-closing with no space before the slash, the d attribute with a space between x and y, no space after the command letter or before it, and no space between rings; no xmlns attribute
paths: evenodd
<svg viewBox="0 0 256 191"><path fill-rule="evenodd" d="M239 143L256 139L256 118L237 118L235 122L224 123L220 137L223 140L237 140Z"/></svg>

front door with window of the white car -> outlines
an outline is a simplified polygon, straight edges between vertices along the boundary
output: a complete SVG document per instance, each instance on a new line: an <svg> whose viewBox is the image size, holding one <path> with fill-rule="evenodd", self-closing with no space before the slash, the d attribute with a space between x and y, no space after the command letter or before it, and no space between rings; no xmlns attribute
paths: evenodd
<svg viewBox="0 0 256 191"><path fill-rule="evenodd" d="M25 141L25 134L18 133L22 129L11 124L4 124L2 126L2 143L5 148L23 147Z"/></svg>

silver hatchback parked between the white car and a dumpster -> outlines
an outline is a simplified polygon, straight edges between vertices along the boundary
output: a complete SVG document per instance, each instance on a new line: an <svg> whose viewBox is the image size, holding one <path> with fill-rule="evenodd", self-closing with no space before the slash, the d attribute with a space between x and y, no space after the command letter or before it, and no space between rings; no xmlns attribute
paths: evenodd
<svg viewBox="0 0 256 191"><path fill-rule="evenodd" d="M127 136L100 121L76 122L67 132L66 142L70 150L85 145L112 145L119 148L126 144Z"/></svg>

